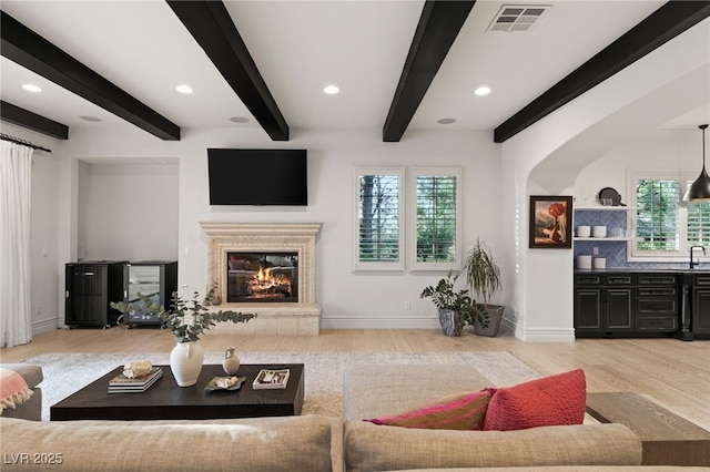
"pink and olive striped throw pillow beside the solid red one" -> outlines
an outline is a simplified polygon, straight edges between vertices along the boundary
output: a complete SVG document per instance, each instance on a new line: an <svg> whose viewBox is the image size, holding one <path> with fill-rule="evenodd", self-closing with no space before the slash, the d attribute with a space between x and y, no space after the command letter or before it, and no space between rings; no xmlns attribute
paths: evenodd
<svg viewBox="0 0 710 472"><path fill-rule="evenodd" d="M471 392L406 413L365 421L429 430L483 430L489 401L489 391Z"/></svg>

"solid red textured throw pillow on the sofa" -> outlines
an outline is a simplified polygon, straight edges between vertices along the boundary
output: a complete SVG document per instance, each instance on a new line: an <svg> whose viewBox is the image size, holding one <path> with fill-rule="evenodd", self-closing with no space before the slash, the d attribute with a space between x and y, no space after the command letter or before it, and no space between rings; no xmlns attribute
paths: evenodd
<svg viewBox="0 0 710 472"><path fill-rule="evenodd" d="M509 431L557 424L581 424L587 382L581 369L500 388L486 412L484 430Z"/></svg>

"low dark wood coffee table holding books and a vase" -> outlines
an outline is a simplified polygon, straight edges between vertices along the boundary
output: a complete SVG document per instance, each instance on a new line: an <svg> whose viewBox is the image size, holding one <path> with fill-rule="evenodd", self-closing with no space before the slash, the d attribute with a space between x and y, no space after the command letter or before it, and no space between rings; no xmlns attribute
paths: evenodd
<svg viewBox="0 0 710 472"><path fill-rule="evenodd" d="M225 377L222 366L205 365L197 383L178 387L170 366L163 377L143 393L109 393L109 380L119 367L50 409L51 421L65 420L209 420L229 418L287 417L301 414L303 363L242 365L236 373L246 377L240 390L205 390L214 377ZM291 369L285 389L254 390L261 369Z"/></svg>

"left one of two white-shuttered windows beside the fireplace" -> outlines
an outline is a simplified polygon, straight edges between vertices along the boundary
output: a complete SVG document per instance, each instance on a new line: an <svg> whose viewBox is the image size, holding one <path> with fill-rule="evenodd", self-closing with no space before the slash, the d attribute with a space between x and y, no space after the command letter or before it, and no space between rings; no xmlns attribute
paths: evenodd
<svg viewBox="0 0 710 472"><path fill-rule="evenodd" d="M404 268L402 168L357 168L355 269Z"/></svg>

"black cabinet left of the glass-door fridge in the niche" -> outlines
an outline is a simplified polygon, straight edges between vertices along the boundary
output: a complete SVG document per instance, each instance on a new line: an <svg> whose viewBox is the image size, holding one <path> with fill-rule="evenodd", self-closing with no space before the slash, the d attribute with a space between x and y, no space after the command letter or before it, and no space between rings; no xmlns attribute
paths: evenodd
<svg viewBox="0 0 710 472"><path fill-rule="evenodd" d="M93 260L69 263L64 268L64 324L74 327L110 328L118 310L111 301L123 299L125 261Z"/></svg>

